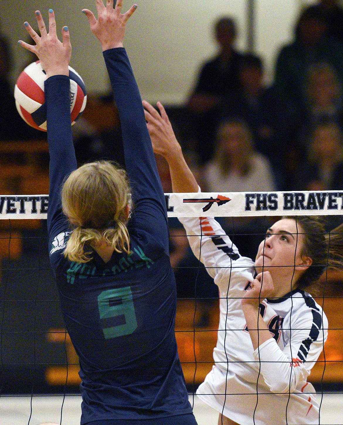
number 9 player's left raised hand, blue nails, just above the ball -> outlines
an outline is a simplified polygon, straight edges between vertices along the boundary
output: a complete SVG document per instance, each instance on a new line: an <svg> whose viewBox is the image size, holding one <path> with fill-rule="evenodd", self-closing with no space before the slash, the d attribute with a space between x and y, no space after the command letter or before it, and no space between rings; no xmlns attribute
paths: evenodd
<svg viewBox="0 0 343 425"><path fill-rule="evenodd" d="M62 28L62 40L57 38L55 14L49 10L49 32L46 30L42 14L35 12L40 36L34 31L28 22L24 23L28 34L31 35L36 45L28 44L19 40L19 44L36 54L42 64L47 77L51 75L69 75L68 64L71 58L71 44L68 27Z"/></svg>

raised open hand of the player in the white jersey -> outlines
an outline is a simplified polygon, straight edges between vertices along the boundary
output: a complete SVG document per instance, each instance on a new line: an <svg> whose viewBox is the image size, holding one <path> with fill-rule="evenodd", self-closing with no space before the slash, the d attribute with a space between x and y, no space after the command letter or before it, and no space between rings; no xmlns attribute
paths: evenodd
<svg viewBox="0 0 343 425"><path fill-rule="evenodd" d="M181 148L179 142L176 140L167 113L161 102L157 102L161 115L146 100L143 100L143 106L145 108L145 120L147 121L147 129L150 133L153 150L168 161L168 158L175 155L175 151L181 150Z"/></svg>

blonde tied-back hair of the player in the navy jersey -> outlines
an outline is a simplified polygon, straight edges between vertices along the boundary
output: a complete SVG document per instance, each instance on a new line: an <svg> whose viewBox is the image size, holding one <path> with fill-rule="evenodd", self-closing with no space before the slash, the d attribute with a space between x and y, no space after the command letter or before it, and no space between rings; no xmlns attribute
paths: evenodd
<svg viewBox="0 0 343 425"><path fill-rule="evenodd" d="M116 252L129 253L126 227L129 184L126 172L109 161L97 161L74 170L62 187L62 210L74 227L64 256L87 263L86 245L105 241Z"/></svg>

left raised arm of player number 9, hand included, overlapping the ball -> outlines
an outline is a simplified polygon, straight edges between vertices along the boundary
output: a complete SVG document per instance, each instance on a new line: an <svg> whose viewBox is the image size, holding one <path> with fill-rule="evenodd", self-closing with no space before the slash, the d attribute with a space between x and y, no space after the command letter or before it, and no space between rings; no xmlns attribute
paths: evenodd
<svg viewBox="0 0 343 425"><path fill-rule="evenodd" d="M65 230L66 219L62 215L60 190L65 176L77 168L71 133L70 81L68 64L71 58L71 44L68 27L62 28L62 42L57 38L54 11L49 10L49 31L40 11L36 11L40 36L24 23L36 43L20 45L36 54L46 73L45 104L47 108L48 145L50 153L50 190L48 209L48 231L57 234Z"/></svg>

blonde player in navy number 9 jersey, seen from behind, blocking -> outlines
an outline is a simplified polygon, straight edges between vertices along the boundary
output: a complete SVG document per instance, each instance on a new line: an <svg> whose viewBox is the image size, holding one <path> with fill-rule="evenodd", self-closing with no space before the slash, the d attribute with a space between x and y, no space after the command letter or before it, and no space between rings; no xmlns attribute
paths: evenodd
<svg viewBox="0 0 343 425"><path fill-rule="evenodd" d="M103 51L122 125L127 175L107 161L77 168L70 116L70 35L36 11L20 44L46 72L48 236L65 325L79 355L81 425L196 425L174 332L176 282L162 185L139 89L123 47L136 5L84 12ZM99 47L100 47L99 46ZM129 187L133 211L129 218Z"/></svg>

